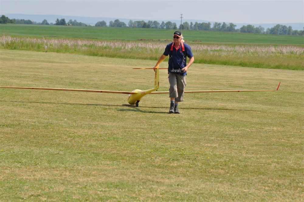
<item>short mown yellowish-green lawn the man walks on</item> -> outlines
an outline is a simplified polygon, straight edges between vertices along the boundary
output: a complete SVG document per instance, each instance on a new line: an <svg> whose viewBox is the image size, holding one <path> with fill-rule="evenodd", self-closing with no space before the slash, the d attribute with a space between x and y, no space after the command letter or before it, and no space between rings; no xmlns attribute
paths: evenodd
<svg viewBox="0 0 304 202"><path fill-rule="evenodd" d="M131 68L156 61L0 51L1 86L153 86ZM168 95L0 89L1 201L302 201L302 71L193 64L187 90L279 81L187 94L181 114Z"/></svg>

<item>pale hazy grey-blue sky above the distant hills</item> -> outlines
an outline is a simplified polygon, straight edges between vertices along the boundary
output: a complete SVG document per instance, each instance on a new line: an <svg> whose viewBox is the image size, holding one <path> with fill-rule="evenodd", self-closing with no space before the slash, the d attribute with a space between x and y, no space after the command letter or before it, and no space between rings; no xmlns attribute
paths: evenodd
<svg viewBox="0 0 304 202"><path fill-rule="evenodd" d="M50 14L232 23L304 23L304 0L0 0L0 15Z"/></svg>

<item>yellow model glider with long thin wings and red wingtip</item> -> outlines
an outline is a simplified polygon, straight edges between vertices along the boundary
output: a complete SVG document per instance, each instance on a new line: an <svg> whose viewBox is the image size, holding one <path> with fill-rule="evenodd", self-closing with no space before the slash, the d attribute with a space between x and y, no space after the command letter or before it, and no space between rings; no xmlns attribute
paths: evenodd
<svg viewBox="0 0 304 202"><path fill-rule="evenodd" d="M153 68L133 68L133 69L153 69ZM61 91L81 91L81 92L99 92L99 93L119 93L119 94L129 94L128 103L130 105L138 106L138 103L147 94L164 94L169 93L168 91L157 92L159 88L159 69L167 68L157 68L154 75L154 88L148 90L135 89L132 92L128 91L108 91L108 90L85 90L85 89L60 89L60 88L34 88L34 87L5 87L0 86L0 88L10 88L10 89L33 89L33 90L61 90ZM281 82L280 82L281 83ZM200 93L200 92L251 92L251 91L277 91L279 89L280 83L276 90L199 90L199 91L185 91L185 93Z"/></svg>

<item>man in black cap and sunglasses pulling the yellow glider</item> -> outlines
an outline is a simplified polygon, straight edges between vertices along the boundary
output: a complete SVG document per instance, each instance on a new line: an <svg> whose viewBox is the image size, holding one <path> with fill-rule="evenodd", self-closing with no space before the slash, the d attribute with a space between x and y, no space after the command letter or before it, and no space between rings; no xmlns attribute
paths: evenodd
<svg viewBox="0 0 304 202"><path fill-rule="evenodd" d="M186 86L185 76L187 75L188 68L194 62L191 48L184 42L182 33L179 31L174 32L173 42L167 45L163 55L153 68L154 70L157 69L159 64L169 55L168 78L170 83L169 97L171 101L169 113L180 113L178 111L178 103L182 102L184 98ZM188 64L187 57L189 57Z"/></svg>

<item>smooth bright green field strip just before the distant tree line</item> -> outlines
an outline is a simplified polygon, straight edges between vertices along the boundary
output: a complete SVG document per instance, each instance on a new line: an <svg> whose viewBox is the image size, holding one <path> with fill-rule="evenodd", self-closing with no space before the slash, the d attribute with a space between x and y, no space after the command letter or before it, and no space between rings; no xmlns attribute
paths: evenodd
<svg viewBox="0 0 304 202"><path fill-rule="evenodd" d="M95 40L171 40L174 30L82 27L51 25L1 25L0 34L32 37L72 37ZM183 30L185 40L200 43L225 44L293 44L304 45L303 36Z"/></svg>

